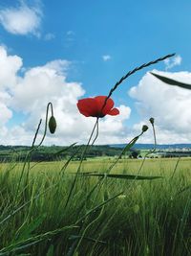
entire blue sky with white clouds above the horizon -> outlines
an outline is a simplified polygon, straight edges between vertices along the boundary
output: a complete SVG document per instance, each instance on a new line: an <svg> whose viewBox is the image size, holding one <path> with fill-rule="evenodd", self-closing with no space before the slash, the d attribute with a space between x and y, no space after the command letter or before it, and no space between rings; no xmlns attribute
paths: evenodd
<svg viewBox="0 0 191 256"><path fill-rule="evenodd" d="M86 143L96 120L77 101L108 95L129 70L171 53L117 88L120 115L100 120L96 143L126 143L150 117L159 144L190 143L191 91L149 74L191 83L190 12L178 0L1 0L0 144L31 145L49 102L57 129L44 144ZM139 142L153 143L151 131Z"/></svg>

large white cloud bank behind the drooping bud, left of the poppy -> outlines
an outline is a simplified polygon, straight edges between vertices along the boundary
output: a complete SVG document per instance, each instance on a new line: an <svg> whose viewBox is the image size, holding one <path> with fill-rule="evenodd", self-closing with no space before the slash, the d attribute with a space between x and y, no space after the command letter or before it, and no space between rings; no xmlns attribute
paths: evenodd
<svg viewBox="0 0 191 256"><path fill-rule="evenodd" d="M1 47L0 63L2 76L6 74L4 79L0 79L1 144L30 145L40 118L45 120L49 102L53 103L57 129L54 135L48 133L45 144L87 142L96 119L86 118L78 112L76 103L85 91L80 82L67 81L69 61L56 59L43 66L24 69L21 58L8 55L6 49ZM22 76L18 72L21 70ZM124 123L131 109L125 105L120 105L119 109L120 115L100 120L98 143L119 143L126 138ZM7 124L14 112L17 115L24 113L26 120L19 123L14 119L15 125L10 128ZM40 129L41 136L43 129L44 123Z"/></svg>

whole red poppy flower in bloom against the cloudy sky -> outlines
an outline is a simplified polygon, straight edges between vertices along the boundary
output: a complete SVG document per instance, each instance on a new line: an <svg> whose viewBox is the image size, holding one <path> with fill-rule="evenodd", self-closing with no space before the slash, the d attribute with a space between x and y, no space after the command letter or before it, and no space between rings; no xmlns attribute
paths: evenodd
<svg viewBox="0 0 191 256"><path fill-rule="evenodd" d="M117 108L113 108L114 101L109 98L105 103L107 96L97 96L95 98L86 98L79 100L77 107L79 112L84 116L104 117L105 115L116 116L119 114Z"/></svg>

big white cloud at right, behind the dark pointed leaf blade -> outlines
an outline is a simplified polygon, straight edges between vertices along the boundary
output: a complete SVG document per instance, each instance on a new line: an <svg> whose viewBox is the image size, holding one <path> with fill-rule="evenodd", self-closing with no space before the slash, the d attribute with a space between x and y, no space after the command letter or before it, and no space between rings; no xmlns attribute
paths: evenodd
<svg viewBox="0 0 191 256"><path fill-rule="evenodd" d="M191 83L189 72L153 72L177 81ZM159 143L191 141L191 91L159 81L147 73L129 94L137 100L142 119L154 117L159 130Z"/></svg>

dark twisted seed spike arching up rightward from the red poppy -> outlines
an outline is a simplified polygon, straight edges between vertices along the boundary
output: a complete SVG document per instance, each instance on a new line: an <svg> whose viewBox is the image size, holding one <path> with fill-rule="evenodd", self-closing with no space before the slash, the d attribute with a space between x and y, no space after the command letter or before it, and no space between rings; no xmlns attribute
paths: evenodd
<svg viewBox="0 0 191 256"><path fill-rule="evenodd" d="M150 62L148 62L148 63L144 63L144 64L142 64L142 65L140 65L140 66L134 68L133 70L129 71L129 72L128 72L126 75L124 75L119 81L117 81L117 83L114 85L114 87L110 90L110 92L109 92L107 98L105 99L105 103L104 103L104 105L102 106L102 109L105 107L105 105L106 105L108 99L112 96L113 92L117 89L118 85L119 85L120 83L122 83L122 81L126 80L128 77L130 77L131 75L133 75L134 73L138 72L139 70L141 70L141 69L143 69L143 68L145 68L145 67L148 67L148 66L150 66L150 65L156 64L156 63L158 63L159 61L162 61L162 60L164 60L164 59L166 59L166 58L171 58L171 57L173 57L173 56L175 56L175 54L166 55L166 56L164 56L164 57L162 57L162 58L157 58L157 59L155 59L155 60L152 60L152 61L150 61Z"/></svg>

